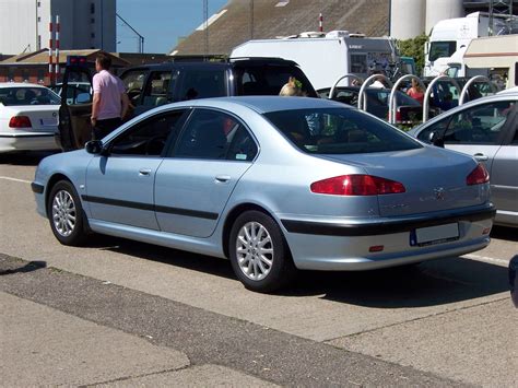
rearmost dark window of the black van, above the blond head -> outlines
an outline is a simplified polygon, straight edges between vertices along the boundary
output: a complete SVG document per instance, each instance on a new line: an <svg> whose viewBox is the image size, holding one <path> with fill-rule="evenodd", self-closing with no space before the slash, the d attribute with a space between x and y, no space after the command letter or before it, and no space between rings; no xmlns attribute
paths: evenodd
<svg viewBox="0 0 518 388"><path fill-rule="evenodd" d="M296 66L261 64L236 66L234 82L237 95L279 95L282 86L295 78L305 96L317 97L310 82Z"/></svg>

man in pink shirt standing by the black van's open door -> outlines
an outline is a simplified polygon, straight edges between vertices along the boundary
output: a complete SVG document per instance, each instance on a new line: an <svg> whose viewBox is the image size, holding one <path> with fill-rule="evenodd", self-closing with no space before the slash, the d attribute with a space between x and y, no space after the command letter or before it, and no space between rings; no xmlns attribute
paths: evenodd
<svg viewBox="0 0 518 388"><path fill-rule="evenodd" d="M94 139L102 139L118 128L128 114L129 98L122 81L108 70L111 59L99 54L95 60L97 74L93 79L94 101L91 122Z"/></svg>

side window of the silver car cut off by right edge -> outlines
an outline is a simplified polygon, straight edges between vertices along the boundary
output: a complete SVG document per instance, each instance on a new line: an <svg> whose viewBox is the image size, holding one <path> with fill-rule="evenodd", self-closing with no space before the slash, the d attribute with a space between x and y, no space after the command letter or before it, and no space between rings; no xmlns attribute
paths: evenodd
<svg viewBox="0 0 518 388"><path fill-rule="evenodd" d="M451 117L444 136L445 143L497 144L511 110L510 102L496 102L459 111Z"/></svg>

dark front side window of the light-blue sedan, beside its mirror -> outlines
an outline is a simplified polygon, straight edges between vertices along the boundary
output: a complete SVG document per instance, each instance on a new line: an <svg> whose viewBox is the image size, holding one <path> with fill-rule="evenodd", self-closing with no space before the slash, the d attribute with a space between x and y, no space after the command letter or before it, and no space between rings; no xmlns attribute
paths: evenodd
<svg viewBox="0 0 518 388"><path fill-rule="evenodd" d="M184 110L156 115L119 136L110 145L115 155L162 155L168 138L178 136Z"/></svg>

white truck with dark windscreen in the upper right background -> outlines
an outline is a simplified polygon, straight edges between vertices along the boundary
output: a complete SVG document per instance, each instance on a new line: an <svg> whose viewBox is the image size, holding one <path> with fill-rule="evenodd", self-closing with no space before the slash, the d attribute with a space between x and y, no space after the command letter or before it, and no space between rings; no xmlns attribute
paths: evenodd
<svg viewBox="0 0 518 388"><path fill-rule="evenodd" d="M494 35L506 33L505 17L494 17ZM447 19L438 22L425 46L424 77L437 77L444 72L449 77L469 77L462 58L471 40L488 36L490 17L474 12L466 17Z"/></svg>

